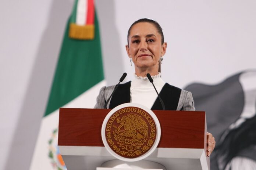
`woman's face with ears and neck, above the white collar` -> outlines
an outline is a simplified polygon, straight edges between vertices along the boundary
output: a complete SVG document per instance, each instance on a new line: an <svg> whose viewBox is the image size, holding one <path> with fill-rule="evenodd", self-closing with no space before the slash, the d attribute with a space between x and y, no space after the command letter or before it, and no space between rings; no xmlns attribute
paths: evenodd
<svg viewBox="0 0 256 170"><path fill-rule="evenodd" d="M161 44L161 35L156 27L149 22L139 22L132 26L128 37L127 54L136 69L156 70L158 72L159 59L166 52L166 43Z"/></svg>

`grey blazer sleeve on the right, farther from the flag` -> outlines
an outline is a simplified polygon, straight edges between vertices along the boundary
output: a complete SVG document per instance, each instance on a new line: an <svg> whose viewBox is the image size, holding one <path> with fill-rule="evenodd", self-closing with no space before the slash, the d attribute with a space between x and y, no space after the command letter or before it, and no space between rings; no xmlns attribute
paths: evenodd
<svg viewBox="0 0 256 170"><path fill-rule="evenodd" d="M192 93L190 91L181 90L181 95L179 96L179 102L177 106L177 111L195 111L194 100Z"/></svg>

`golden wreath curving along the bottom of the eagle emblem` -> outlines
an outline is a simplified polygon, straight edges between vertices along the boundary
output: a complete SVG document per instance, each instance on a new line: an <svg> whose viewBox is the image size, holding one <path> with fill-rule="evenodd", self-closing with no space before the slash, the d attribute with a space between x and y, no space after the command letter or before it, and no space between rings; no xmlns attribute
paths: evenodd
<svg viewBox="0 0 256 170"><path fill-rule="evenodd" d="M117 137L117 134L116 134L115 132L113 132L113 135L114 135L114 138ZM136 151L121 151L120 147L121 147L122 149L124 149L124 148L121 146L121 143L118 142L118 144L120 144L120 147L117 147L117 146L115 145L115 142L111 139L111 138L112 138L112 137L111 137L111 133L110 133L110 132L107 133L107 141L108 141L108 143L109 143L109 146L112 147L112 149L113 149L116 153L118 153L118 154L120 154L120 155L123 155L123 156L127 155L127 156L131 156L131 157L133 157L133 156L135 156L135 155L141 155L142 153L144 153L144 152L146 152L147 150L149 150L149 148L152 147L152 145L153 145L153 143L154 143L154 140L153 140L153 139L154 139L155 137L156 137L156 133L151 132L151 133L150 133L149 140L147 141L147 144L144 145L142 148L137 149ZM144 143L144 142L143 142L143 143Z"/></svg>

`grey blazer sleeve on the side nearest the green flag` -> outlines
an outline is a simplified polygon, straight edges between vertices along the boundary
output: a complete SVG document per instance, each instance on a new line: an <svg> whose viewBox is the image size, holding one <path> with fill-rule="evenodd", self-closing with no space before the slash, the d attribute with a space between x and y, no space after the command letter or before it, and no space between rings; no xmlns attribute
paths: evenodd
<svg viewBox="0 0 256 170"><path fill-rule="evenodd" d="M115 86L104 86L100 89L100 94L97 96L96 105L94 106L95 109L104 109L105 101L110 97L114 88ZM109 108L109 103L107 104L107 108Z"/></svg>

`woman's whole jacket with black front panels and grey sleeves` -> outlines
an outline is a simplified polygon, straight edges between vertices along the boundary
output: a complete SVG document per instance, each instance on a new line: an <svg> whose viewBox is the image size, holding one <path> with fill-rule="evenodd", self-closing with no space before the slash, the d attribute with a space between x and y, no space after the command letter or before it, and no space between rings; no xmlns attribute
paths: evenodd
<svg viewBox="0 0 256 170"><path fill-rule="evenodd" d="M97 103L94 108L103 109L105 102L114 91L114 86L104 86L100 89L100 93L97 97ZM113 109L115 106L124 104L131 101L130 94L131 81L120 84L112 95L110 102L107 104L107 108ZM177 111L195 111L194 100L192 93L186 90L182 90L178 87L171 86L168 83L164 84L164 87L159 93L161 99L164 102L166 110ZM152 110L162 110L162 106L159 98L154 102Z"/></svg>

